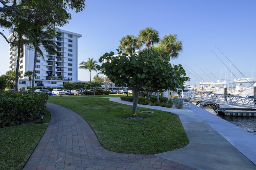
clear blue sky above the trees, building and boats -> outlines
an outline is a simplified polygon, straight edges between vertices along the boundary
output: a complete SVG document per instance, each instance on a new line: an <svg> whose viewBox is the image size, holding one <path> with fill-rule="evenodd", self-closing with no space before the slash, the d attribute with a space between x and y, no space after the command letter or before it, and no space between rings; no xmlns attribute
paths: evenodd
<svg viewBox="0 0 256 170"><path fill-rule="evenodd" d="M85 10L72 12L72 20L61 29L82 34L78 64L116 53L122 37L138 35L146 27L158 30L160 37L177 34L183 51L170 63L182 64L187 76L190 72L190 84L198 84L217 78L234 80L234 75L256 77L255 9L255 0L86 0ZM8 71L9 53L2 37L0 51L1 75ZM96 73L92 71L92 78ZM89 71L78 69L78 80L88 81Z"/></svg>

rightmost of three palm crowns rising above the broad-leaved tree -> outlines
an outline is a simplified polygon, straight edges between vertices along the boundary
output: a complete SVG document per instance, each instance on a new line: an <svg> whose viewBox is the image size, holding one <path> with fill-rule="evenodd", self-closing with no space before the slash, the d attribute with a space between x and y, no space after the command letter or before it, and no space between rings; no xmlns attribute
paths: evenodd
<svg viewBox="0 0 256 170"><path fill-rule="evenodd" d="M182 42L178 41L176 34L165 35L159 42L172 59L178 58L179 52L182 51Z"/></svg>

